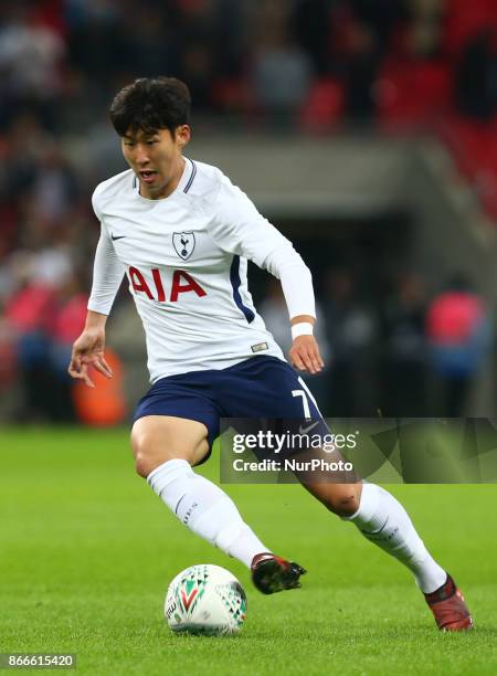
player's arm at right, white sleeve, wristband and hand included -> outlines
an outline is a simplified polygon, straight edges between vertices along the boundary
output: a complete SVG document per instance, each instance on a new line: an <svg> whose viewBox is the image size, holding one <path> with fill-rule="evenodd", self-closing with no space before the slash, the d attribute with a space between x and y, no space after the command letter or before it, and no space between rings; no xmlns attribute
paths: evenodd
<svg viewBox="0 0 497 676"><path fill-rule="evenodd" d="M292 325L290 362L302 371L319 372L325 365L313 335L313 277L292 242L226 178L216 199L211 233L224 250L253 261L281 281Z"/></svg>

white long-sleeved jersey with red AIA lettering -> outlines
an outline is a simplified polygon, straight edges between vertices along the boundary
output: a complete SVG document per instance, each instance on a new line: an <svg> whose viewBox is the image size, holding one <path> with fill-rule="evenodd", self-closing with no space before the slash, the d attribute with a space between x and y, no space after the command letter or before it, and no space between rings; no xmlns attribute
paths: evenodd
<svg viewBox="0 0 497 676"><path fill-rule="evenodd" d="M215 167L186 159L176 190L140 196L131 170L93 194L102 223L88 309L108 315L126 274L145 328L151 382L284 359L247 287L247 258L282 279L290 317L315 316L310 272L290 242Z"/></svg>

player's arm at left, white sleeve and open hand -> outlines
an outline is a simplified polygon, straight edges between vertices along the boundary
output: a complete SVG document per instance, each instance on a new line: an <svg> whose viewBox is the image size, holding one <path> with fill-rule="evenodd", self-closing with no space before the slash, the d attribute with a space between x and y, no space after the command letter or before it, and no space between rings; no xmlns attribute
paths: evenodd
<svg viewBox="0 0 497 676"><path fill-rule="evenodd" d="M89 388L95 387L88 373L91 366L106 378L113 377L104 357L105 324L124 275L123 264L117 257L97 205L97 193L98 189L93 196L93 208L97 218L101 219L101 239L95 253L88 313L85 327L73 345L67 369L70 376L83 380Z"/></svg>

